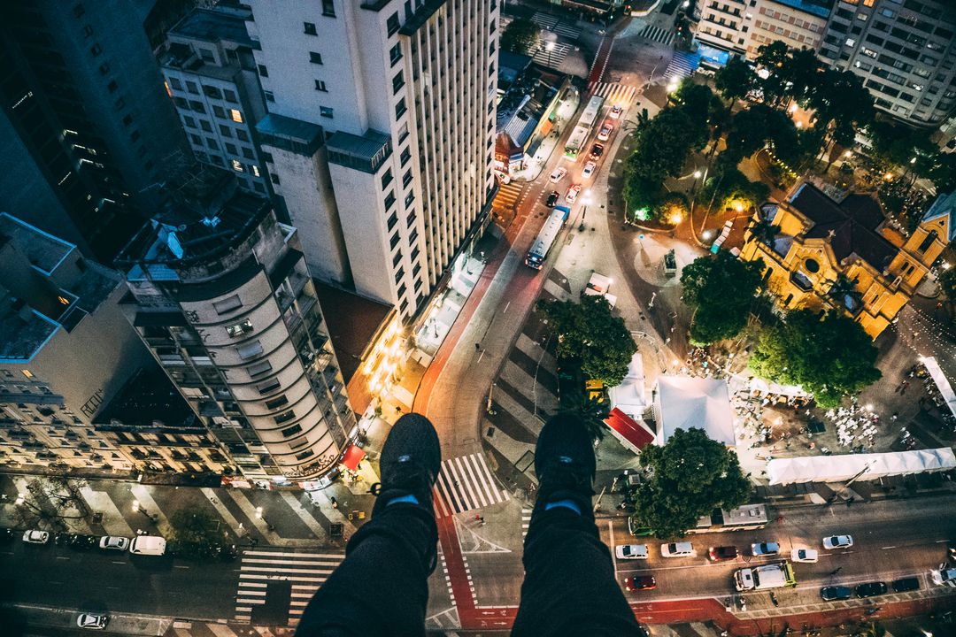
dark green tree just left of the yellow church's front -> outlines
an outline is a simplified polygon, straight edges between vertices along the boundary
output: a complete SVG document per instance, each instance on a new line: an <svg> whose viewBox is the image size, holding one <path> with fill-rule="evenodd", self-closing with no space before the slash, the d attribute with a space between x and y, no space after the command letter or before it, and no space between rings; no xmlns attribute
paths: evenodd
<svg viewBox="0 0 956 637"><path fill-rule="evenodd" d="M694 310L692 343L714 343L744 329L763 270L762 261L742 261L726 251L699 257L684 267L684 303Z"/></svg>

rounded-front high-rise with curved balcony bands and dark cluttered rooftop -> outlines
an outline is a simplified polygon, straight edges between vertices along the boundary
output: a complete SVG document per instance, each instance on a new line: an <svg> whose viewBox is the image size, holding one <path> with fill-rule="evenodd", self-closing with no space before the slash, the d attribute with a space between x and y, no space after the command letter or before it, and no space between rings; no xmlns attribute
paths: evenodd
<svg viewBox="0 0 956 637"><path fill-rule="evenodd" d="M127 318L250 478L312 478L357 435L295 228L197 163L124 248Z"/></svg>

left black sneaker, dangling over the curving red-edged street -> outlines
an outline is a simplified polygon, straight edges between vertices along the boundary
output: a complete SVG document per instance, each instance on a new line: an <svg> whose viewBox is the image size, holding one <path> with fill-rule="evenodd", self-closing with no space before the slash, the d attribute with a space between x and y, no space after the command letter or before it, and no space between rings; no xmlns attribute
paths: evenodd
<svg viewBox="0 0 956 637"><path fill-rule="evenodd" d="M422 414L404 414L392 426L379 458L381 483L376 485L379 509L394 498L415 496L432 508L431 489L442 468L442 445L438 433Z"/></svg>

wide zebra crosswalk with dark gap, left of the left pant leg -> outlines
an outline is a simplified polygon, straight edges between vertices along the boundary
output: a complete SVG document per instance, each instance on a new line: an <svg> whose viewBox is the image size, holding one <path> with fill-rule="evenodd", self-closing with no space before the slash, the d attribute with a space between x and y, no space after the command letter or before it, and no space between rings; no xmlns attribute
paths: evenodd
<svg viewBox="0 0 956 637"><path fill-rule="evenodd" d="M245 551L239 567L235 620L252 620L253 606L266 604L270 582L290 582L289 619L291 624L297 622L315 591L344 558L344 553L335 552Z"/></svg>

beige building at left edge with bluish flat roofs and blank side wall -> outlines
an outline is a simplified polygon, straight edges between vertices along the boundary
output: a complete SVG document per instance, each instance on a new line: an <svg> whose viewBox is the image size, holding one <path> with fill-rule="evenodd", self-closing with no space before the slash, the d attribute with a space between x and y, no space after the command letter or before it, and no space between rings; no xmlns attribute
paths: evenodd
<svg viewBox="0 0 956 637"><path fill-rule="evenodd" d="M152 365L120 309L120 278L7 213L0 270L0 463L128 471L92 426L127 374Z"/></svg>

